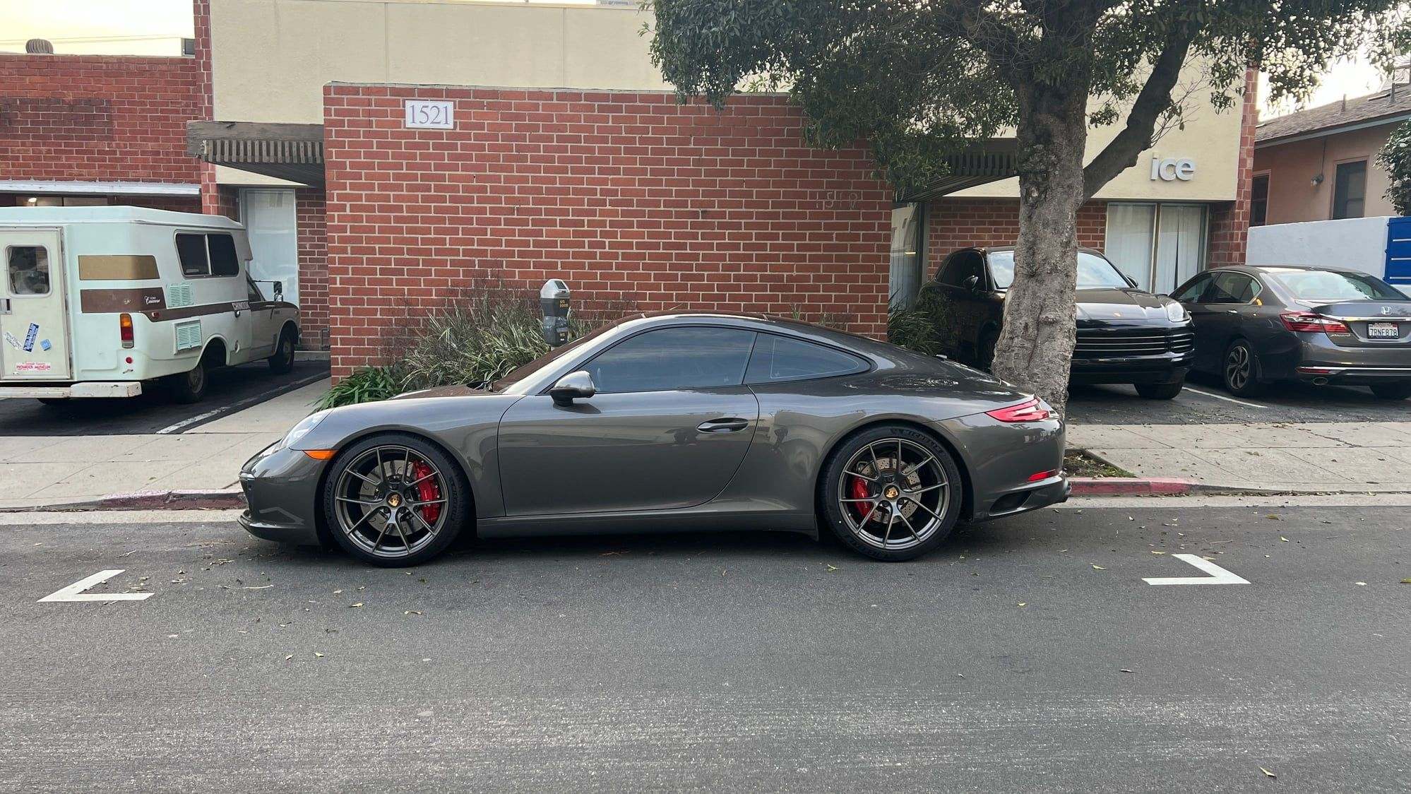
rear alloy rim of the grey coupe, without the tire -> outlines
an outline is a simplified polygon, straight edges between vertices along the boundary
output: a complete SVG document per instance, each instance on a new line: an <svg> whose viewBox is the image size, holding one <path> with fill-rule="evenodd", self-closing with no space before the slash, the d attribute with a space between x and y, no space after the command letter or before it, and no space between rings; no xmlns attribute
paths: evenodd
<svg viewBox="0 0 1411 794"><path fill-rule="evenodd" d="M951 503L945 468L906 439L880 439L858 450L838 478L838 508L852 535L886 550L926 543Z"/></svg>

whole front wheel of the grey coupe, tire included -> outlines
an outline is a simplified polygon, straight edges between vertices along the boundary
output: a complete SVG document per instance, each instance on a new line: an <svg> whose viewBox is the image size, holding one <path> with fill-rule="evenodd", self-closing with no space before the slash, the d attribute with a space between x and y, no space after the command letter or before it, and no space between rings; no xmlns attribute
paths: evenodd
<svg viewBox="0 0 1411 794"><path fill-rule="evenodd" d="M470 518L460 468L416 436L373 436L334 458L323 487L329 533L344 551L381 567L440 554Z"/></svg>

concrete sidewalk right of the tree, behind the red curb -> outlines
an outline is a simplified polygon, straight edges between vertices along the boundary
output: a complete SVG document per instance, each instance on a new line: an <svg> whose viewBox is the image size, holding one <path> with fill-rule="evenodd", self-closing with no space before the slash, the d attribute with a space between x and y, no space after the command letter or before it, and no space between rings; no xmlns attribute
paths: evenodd
<svg viewBox="0 0 1411 794"><path fill-rule="evenodd" d="M1411 491L1411 422L1070 425L1137 477L1274 491Z"/></svg>

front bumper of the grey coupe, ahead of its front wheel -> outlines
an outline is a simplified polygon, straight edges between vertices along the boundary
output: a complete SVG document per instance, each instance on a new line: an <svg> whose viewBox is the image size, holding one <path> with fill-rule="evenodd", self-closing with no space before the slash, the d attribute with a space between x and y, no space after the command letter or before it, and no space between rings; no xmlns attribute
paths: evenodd
<svg viewBox="0 0 1411 794"><path fill-rule="evenodd" d="M240 468L240 488L250 505L237 519L246 532L264 540L319 544L319 482L326 461L277 441Z"/></svg>

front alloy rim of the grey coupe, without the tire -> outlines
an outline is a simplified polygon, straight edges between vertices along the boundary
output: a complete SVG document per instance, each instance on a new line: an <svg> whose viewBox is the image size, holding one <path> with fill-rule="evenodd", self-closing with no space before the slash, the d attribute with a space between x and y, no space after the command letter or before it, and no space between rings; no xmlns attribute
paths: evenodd
<svg viewBox="0 0 1411 794"><path fill-rule="evenodd" d="M402 444L365 450L339 475L333 491L339 530L377 557L406 557L446 526L446 477Z"/></svg>

